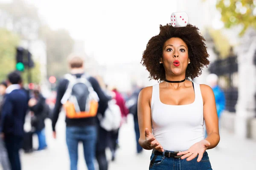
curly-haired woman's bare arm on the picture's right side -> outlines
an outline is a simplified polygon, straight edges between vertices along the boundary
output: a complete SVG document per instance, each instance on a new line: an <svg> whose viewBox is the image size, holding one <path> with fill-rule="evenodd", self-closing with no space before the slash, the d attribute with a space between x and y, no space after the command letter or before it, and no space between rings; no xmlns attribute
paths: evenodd
<svg viewBox="0 0 256 170"><path fill-rule="evenodd" d="M204 101L204 121L208 135L206 140L210 143L207 149L212 149L220 141L215 97L211 87L204 84L201 84L200 87Z"/></svg>

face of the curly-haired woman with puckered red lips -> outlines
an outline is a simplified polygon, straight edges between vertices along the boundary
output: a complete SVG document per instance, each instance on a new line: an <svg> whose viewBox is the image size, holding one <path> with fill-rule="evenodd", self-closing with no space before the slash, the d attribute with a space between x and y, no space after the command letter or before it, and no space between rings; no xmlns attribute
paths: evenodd
<svg viewBox="0 0 256 170"><path fill-rule="evenodd" d="M161 59L166 74L183 75L189 64L188 47L180 38L170 38L164 43Z"/></svg>

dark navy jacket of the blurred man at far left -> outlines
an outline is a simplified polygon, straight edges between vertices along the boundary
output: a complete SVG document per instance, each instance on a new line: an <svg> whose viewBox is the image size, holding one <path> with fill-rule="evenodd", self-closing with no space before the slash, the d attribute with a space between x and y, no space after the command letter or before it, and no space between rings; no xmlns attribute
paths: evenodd
<svg viewBox="0 0 256 170"><path fill-rule="evenodd" d="M28 100L29 96L23 89L15 89L5 95L1 112L0 133L23 136Z"/></svg>

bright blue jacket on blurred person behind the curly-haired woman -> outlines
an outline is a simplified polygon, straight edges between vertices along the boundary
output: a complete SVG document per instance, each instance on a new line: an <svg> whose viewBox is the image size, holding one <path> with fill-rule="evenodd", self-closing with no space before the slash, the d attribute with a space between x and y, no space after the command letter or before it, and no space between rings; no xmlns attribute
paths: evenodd
<svg viewBox="0 0 256 170"><path fill-rule="evenodd" d="M214 96L215 96L218 118L220 118L221 113L225 109L225 104L226 104L225 94L219 86L213 87L212 90L213 90L213 93L214 93Z"/></svg>

